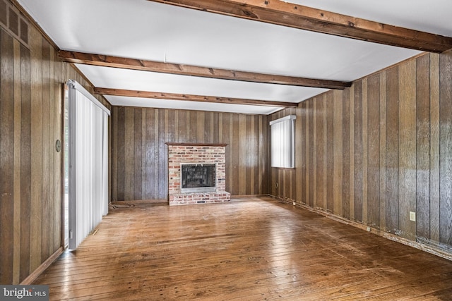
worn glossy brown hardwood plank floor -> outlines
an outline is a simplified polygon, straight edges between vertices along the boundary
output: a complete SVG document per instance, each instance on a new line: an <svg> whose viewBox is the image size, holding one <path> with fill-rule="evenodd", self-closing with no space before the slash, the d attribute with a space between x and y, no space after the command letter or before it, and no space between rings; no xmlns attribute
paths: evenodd
<svg viewBox="0 0 452 301"><path fill-rule="evenodd" d="M274 199L126 204L37 278L50 300L452 298L451 261Z"/></svg>

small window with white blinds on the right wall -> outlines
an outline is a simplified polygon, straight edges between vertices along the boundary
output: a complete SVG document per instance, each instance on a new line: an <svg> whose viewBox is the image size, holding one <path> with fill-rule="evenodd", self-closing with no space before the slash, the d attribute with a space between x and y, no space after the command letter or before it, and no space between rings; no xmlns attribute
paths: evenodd
<svg viewBox="0 0 452 301"><path fill-rule="evenodd" d="M271 166L295 167L295 115L270 121Z"/></svg>

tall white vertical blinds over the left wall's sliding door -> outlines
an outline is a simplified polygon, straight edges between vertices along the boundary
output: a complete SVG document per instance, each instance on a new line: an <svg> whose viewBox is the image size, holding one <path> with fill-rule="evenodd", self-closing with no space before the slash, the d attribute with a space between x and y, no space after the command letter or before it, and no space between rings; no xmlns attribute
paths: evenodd
<svg viewBox="0 0 452 301"><path fill-rule="evenodd" d="M69 249L108 212L109 111L78 82L69 80Z"/></svg>

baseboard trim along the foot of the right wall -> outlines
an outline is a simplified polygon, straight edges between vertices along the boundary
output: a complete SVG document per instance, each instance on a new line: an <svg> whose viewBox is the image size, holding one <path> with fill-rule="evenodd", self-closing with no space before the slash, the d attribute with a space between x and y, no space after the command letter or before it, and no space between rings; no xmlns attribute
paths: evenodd
<svg viewBox="0 0 452 301"><path fill-rule="evenodd" d="M292 199L281 199L280 197L275 197L274 195L268 195L268 196L273 198L273 199L276 199L276 200L278 200L280 202L284 202L286 204L293 205ZM448 250L444 250L444 249L441 249L439 247L435 247L435 246L432 246L432 245L427 245L427 244L422 243L422 242L418 242L418 241L414 241L414 240L408 240L407 238L402 238L402 237L400 237L398 235L395 235L393 233L388 233L388 232L385 232L385 231L381 231L379 229L372 228L371 226L364 225L363 223L359 223L357 221L350 221L349 219L344 219L343 217L335 215L335 214L331 214L330 212L326 212L326 211L323 211L321 209L309 207L306 204L295 203L295 207L300 207L302 209L306 209L306 210L314 212L316 214L320 214L322 216L325 216L328 219L333 219L334 221L339 221L340 223L345 223L347 225L354 226L355 228L359 228L359 229L362 229L363 231L374 233L374 234L379 235L379 236L381 236L383 238L386 238L388 240L393 240L395 242L400 242L403 245L408 245L410 247L415 247L418 250L422 250L424 252L427 252L427 253L430 253L430 254L434 254L436 256L439 256L439 257L442 257L444 259L448 259L448 260L452 261L452 252L448 252Z"/></svg>

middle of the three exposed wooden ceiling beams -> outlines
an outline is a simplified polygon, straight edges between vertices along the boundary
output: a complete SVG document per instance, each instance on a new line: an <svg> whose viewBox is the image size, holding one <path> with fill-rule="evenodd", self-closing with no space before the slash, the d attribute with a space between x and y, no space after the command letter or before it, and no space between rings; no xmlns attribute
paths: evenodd
<svg viewBox="0 0 452 301"><path fill-rule="evenodd" d="M121 58L118 56L105 56L101 54L86 54L82 52L58 52L60 59L70 63L83 63L94 66L106 66L133 70L170 73L177 75L191 75L202 78L220 78L223 80L240 80L244 82L262 82L279 85L293 85L301 87L317 87L324 89L343 90L352 85L351 82L338 80L316 80L312 78L297 78L293 76L270 75L235 70L206 68L176 63L162 63L158 61L145 61L140 59Z"/></svg>

